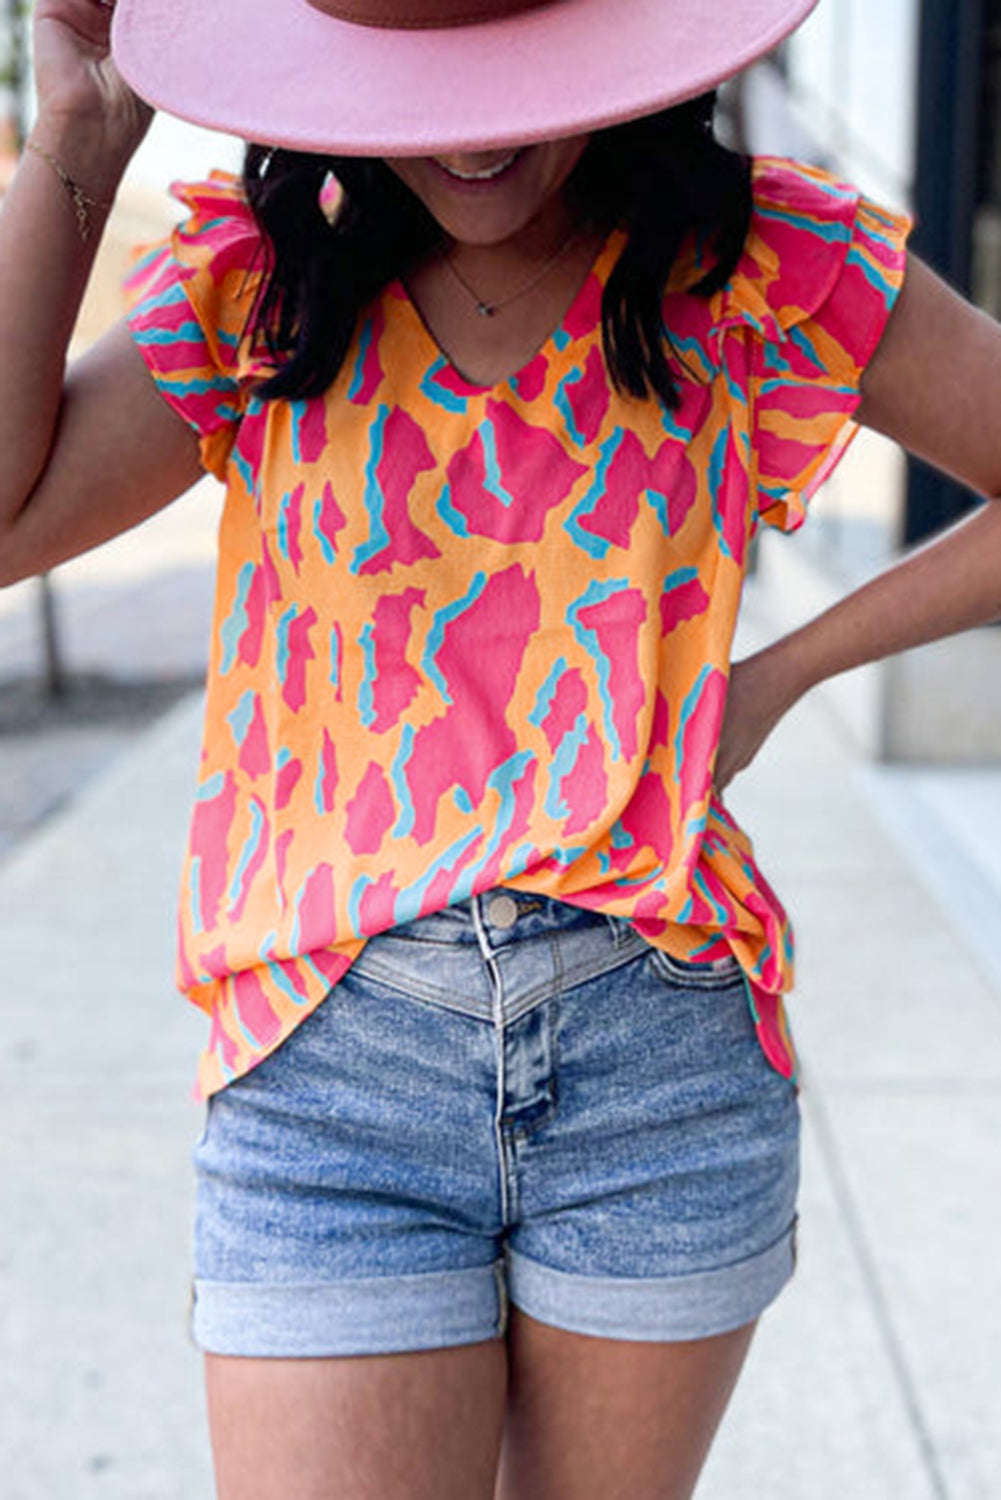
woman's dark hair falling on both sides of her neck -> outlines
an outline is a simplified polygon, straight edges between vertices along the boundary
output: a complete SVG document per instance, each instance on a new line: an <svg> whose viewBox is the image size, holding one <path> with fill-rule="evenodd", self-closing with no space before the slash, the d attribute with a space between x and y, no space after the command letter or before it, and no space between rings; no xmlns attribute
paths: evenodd
<svg viewBox="0 0 1001 1500"><path fill-rule="evenodd" d="M710 297L732 276L750 224L750 164L713 132L716 94L594 134L567 192L596 228L626 246L602 303L615 386L678 405L662 303L681 246L695 236L708 266L689 290ZM345 192L332 228L318 208L329 171ZM441 243L441 230L384 162L249 146L248 202L264 232L266 274L254 309L278 372L264 398L317 396L341 369L359 314Z"/></svg>

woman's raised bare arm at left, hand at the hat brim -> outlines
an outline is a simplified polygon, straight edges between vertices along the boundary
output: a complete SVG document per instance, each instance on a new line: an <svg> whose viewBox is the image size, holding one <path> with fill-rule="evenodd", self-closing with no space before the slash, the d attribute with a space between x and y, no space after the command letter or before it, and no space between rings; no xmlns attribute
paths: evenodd
<svg viewBox="0 0 1001 1500"><path fill-rule="evenodd" d="M65 382L108 204L150 112L108 56L99 0L38 0L39 117L0 213L0 584L126 530L198 478L198 444L125 328ZM44 153L44 154L41 154ZM48 158L48 159L47 159ZM87 237L53 165L90 200Z"/></svg>

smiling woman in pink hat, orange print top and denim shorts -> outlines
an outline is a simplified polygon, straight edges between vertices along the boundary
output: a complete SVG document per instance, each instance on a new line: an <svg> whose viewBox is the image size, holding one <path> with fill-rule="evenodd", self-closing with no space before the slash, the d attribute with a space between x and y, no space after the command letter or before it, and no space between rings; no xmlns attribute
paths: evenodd
<svg viewBox="0 0 1001 1500"><path fill-rule="evenodd" d="M689 1496L791 1275L791 936L720 794L1001 612L987 506L729 666L852 418L1001 478L995 326L711 136L810 8L119 0L122 74L36 8L0 579L228 490L180 912L224 1500ZM140 96L263 146L63 380Z"/></svg>

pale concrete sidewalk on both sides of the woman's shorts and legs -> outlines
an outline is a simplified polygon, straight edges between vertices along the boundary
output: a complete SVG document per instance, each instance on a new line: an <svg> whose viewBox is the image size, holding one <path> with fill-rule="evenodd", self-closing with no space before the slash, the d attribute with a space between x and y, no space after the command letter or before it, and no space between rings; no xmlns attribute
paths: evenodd
<svg viewBox="0 0 1001 1500"><path fill-rule="evenodd" d="M5 1500L212 1494L186 1341L203 1022L171 987L198 714L0 864ZM734 792L797 918L806 1162L800 1270L699 1500L996 1500L998 788L864 768L810 702Z"/></svg>

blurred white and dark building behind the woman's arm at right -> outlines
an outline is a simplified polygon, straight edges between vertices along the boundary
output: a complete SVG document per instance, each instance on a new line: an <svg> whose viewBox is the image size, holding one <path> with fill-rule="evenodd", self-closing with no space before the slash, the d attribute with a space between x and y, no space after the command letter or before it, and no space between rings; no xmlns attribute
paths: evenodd
<svg viewBox="0 0 1001 1500"><path fill-rule="evenodd" d="M917 254L1001 315L1001 0L821 0L780 54L741 81L738 108L752 150L812 160L911 212ZM762 594L777 624L971 504L960 486L861 434L795 542L764 538ZM996 627L852 674L827 693L879 759L1001 759Z"/></svg>

